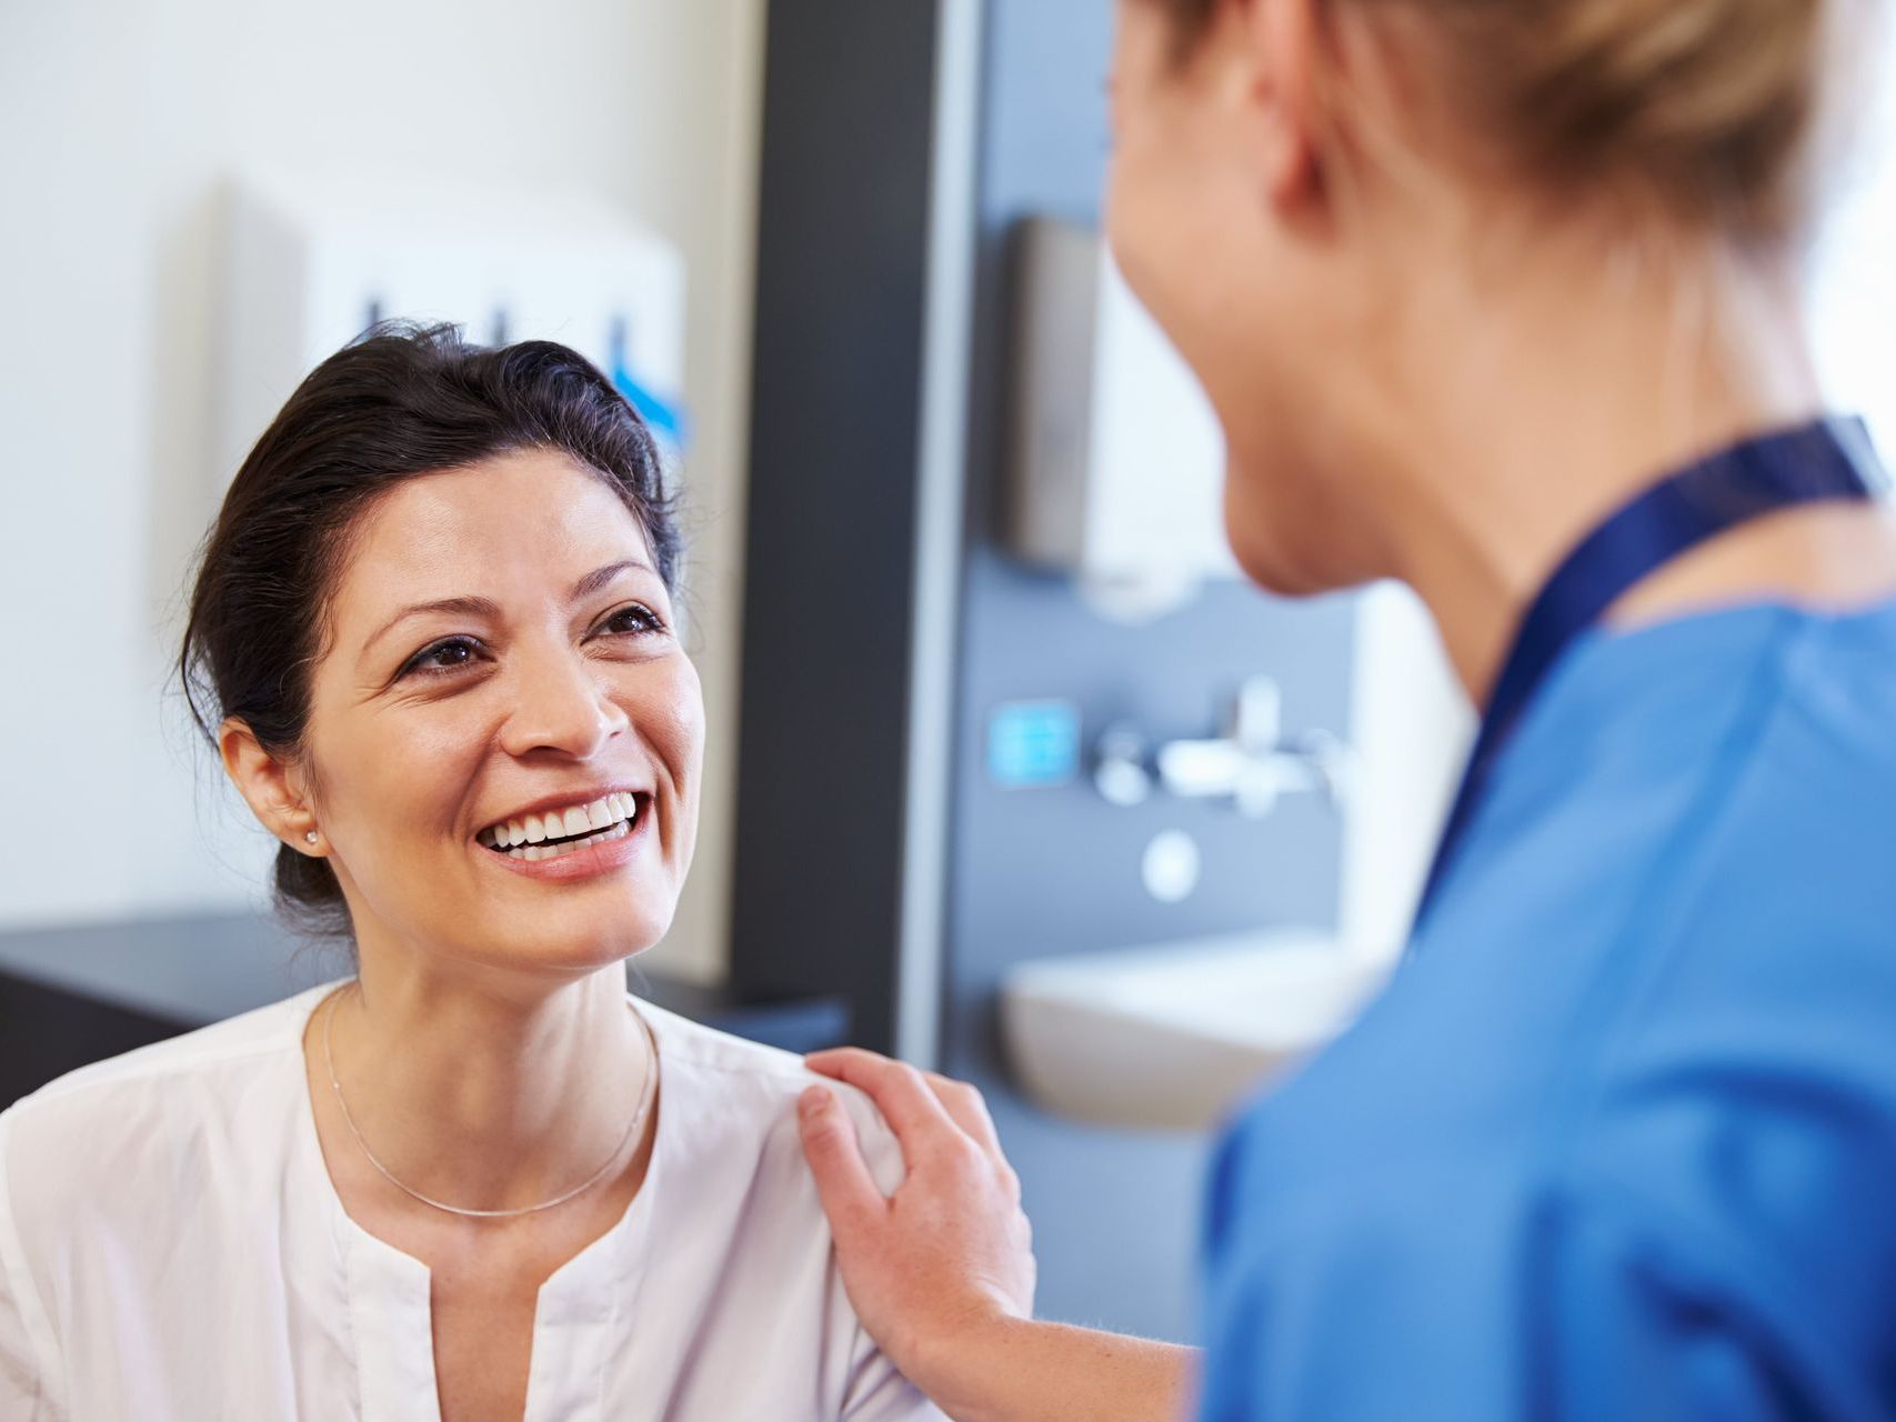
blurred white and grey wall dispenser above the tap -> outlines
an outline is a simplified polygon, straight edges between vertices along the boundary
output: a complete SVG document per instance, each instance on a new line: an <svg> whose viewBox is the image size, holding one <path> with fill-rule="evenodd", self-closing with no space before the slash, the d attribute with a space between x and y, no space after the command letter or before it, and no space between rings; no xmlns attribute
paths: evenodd
<svg viewBox="0 0 1896 1422"><path fill-rule="evenodd" d="M1236 576L1225 438L1198 379L1098 233L1030 218L1016 243L1001 546L1134 618Z"/></svg>

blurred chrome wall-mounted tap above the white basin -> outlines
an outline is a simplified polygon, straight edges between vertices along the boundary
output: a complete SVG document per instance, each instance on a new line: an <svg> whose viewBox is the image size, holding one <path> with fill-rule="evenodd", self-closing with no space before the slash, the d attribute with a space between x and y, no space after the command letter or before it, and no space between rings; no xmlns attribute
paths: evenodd
<svg viewBox="0 0 1896 1422"><path fill-rule="evenodd" d="M1128 724L1107 728L1094 747L1092 781L1119 806L1143 802L1153 787L1187 800L1231 798L1253 819L1268 815L1280 794L1318 793L1335 806L1348 800L1350 747L1323 730L1284 736L1284 694L1270 677L1238 688L1223 736L1164 741Z"/></svg>

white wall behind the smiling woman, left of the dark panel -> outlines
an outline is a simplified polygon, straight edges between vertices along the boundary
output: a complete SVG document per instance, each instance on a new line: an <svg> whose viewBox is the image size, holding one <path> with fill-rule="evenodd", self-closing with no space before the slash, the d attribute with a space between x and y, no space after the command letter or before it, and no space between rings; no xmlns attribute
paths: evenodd
<svg viewBox="0 0 1896 1422"><path fill-rule="evenodd" d="M0 8L0 931L260 901L271 842L161 694L214 468L237 171L592 188L690 264L698 868L724 961L762 0Z"/></svg>

